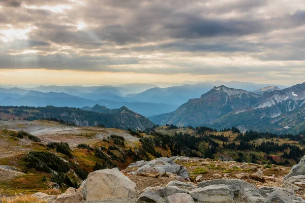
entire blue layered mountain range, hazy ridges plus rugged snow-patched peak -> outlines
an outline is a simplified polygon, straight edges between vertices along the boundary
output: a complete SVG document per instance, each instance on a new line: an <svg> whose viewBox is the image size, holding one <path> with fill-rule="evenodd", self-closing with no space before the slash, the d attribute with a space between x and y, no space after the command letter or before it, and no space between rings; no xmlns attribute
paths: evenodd
<svg viewBox="0 0 305 203"><path fill-rule="evenodd" d="M235 126L281 133L305 130L304 83L289 88L237 81L213 84L218 83L225 85L3 86L0 106L70 107L110 115L124 107L156 124Z"/></svg>

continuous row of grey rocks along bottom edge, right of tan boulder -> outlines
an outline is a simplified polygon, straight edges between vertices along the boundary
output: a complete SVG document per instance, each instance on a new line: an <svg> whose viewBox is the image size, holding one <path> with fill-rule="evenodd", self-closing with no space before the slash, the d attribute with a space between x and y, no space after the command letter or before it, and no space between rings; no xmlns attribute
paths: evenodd
<svg viewBox="0 0 305 203"><path fill-rule="evenodd" d="M165 199L163 199L165 198ZM171 181L166 187L147 188L139 201L148 202L305 202L293 190L280 187L256 188L242 180L216 179L203 181L198 186L190 183Z"/></svg>

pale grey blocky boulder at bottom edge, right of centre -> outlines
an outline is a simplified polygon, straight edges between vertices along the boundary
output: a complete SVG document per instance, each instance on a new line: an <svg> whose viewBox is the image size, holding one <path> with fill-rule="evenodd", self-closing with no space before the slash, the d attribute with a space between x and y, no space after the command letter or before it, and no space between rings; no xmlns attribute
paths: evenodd
<svg viewBox="0 0 305 203"><path fill-rule="evenodd" d="M233 202L234 190L228 185L209 185L192 190L190 195L199 201Z"/></svg>

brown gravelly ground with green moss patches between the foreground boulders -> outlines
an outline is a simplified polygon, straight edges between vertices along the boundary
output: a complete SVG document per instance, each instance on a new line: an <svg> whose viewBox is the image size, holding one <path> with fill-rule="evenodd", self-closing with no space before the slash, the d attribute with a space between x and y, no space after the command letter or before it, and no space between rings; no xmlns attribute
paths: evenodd
<svg viewBox="0 0 305 203"><path fill-rule="evenodd" d="M201 177L199 179L200 181L214 180L216 178L241 179L255 185L256 187L280 187L281 180L290 171L290 167L285 166L239 163L236 161L219 161L196 157L179 157L178 160L175 160L175 163L184 166L188 170L190 179L194 184L199 182L196 181L196 178ZM156 179L151 177L139 177L137 175L132 175L132 172L137 170L138 167L129 167L123 172L137 184L139 189L143 189L151 185L164 186L171 181L171 178L167 177L158 177ZM258 181L250 178L250 175L257 172L258 170L262 171L263 176L266 178L265 181Z"/></svg>

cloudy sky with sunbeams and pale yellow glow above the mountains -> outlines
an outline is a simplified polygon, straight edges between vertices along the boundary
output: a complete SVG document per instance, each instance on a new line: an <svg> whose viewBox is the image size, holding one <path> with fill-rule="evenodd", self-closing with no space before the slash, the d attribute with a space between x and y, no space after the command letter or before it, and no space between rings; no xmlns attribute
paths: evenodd
<svg viewBox="0 0 305 203"><path fill-rule="evenodd" d="M305 80L304 0L0 0L0 83Z"/></svg>

